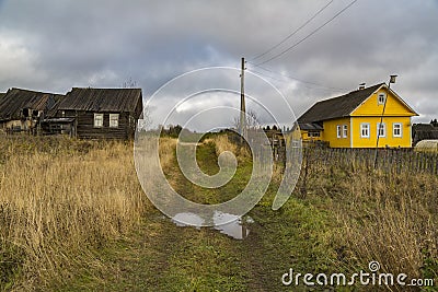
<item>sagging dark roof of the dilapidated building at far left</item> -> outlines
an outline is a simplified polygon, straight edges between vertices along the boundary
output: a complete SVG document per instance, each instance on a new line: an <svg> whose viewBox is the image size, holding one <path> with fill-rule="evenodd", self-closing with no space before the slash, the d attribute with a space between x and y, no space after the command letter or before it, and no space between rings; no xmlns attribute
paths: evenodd
<svg viewBox="0 0 438 292"><path fill-rule="evenodd" d="M51 93L11 89L0 98L0 119L20 118L23 108L46 110L54 105L54 96Z"/></svg>

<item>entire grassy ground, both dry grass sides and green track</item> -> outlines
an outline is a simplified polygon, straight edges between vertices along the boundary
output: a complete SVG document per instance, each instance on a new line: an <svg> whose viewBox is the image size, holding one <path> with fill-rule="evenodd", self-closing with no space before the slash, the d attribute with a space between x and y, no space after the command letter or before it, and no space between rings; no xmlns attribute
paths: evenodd
<svg viewBox="0 0 438 292"><path fill-rule="evenodd" d="M368 270L371 260L380 271L435 278L438 285L436 176L309 165L300 191L273 211L277 166L250 212L249 236L239 241L214 229L176 226L153 208L129 142L0 139L0 290L308 291L284 287L281 276L290 268L350 275ZM210 174L218 171L218 152L239 152L235 177L218 189L184 179L174 145L162 139L161 162L186 198L216 203L245 187L251 155L226 139L206 140L197 152Z"/></svg>

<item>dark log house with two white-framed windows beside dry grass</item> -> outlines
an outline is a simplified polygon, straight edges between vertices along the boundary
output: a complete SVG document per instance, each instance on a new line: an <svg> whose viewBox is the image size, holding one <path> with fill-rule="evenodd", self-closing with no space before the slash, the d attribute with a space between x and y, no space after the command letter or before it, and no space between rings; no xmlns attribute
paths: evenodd
<svg viewBox="0 0 438 292"><path fill-rule="evenodd" d="M46 127L78 138L131 139L142 109L141 89L73 87Z"/></svg>

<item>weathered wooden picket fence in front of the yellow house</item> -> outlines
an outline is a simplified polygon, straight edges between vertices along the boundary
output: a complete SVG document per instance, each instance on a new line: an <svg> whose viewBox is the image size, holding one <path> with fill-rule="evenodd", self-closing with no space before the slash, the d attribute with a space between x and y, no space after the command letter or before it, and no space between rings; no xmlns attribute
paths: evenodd
<svg viewBox="0 0 438 292"><path fill-rule="evenodd" d="M374 163L376 161L376 163ZM330 149L304 148L303 163L310 166L337 165L349 170L381 170L387 173L425 173L438 175L438 154L412 149Z"/></svg>

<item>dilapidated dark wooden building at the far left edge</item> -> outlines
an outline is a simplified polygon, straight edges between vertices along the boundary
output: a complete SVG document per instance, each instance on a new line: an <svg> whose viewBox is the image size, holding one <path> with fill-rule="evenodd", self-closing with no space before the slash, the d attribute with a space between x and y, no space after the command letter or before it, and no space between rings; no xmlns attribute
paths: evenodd
<svg viewBox="0 0 438 292"><path fill-rule="evenodd" d="M43 120L62 95L10 89L0 96L0 130L7 133L39 131Z"/></svg>

